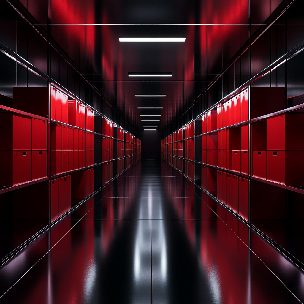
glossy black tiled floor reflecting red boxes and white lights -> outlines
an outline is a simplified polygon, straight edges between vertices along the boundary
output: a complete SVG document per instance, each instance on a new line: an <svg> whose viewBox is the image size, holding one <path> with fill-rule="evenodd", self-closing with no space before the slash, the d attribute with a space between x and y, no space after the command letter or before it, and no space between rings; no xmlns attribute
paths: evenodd
<svg viewBox="0 0 304 304"><path fill-rule="evenodd" d="M301 303L304 275L165 162L134 164L0 269L0 303Z"/></svg>

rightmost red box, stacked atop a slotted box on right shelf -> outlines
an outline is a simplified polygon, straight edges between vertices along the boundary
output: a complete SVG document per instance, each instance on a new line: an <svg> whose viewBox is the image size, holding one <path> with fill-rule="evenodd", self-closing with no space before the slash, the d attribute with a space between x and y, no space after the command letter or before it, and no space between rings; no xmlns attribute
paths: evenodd
<svg viewBox="0 0 304 304"><path fill-rule="evenodd" d="M267 119L267 150L304 150L304 114Z"/></svg>

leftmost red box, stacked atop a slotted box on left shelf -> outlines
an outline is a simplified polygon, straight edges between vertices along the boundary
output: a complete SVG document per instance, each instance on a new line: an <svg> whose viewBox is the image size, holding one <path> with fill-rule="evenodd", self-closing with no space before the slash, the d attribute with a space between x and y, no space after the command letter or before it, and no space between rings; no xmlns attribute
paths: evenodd
<svg viewBox="0 0 304 304"><path fill-rule="evenodd" d="M31 128L30 118L0 113L0 150L31 150Z"/></svg>

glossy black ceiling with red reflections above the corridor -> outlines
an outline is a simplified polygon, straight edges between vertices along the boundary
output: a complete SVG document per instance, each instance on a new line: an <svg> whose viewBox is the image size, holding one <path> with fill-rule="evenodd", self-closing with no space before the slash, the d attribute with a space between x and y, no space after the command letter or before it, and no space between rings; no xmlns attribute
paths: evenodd
<svg viewBox="0 0 304 304"><path fill-rule="evenodd" d="M21 2L41 24L46 23L41 13L42 2L39 5L31 0ZM280 2L252 0L251 15L256 26ZM143 130L140 115L150 114L161 115L158 130L166 130L216 78L250 33L248 0L52 0L50 3L53 38L139 131ZM119 42L119 37L186 37L186 40ZM79 57L75 56L76 49ZM128 72L172 72L172 77L129 77ZM166 97L140 98L136 94Z"/></svg>

